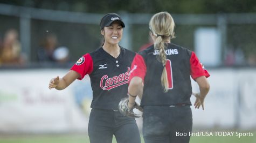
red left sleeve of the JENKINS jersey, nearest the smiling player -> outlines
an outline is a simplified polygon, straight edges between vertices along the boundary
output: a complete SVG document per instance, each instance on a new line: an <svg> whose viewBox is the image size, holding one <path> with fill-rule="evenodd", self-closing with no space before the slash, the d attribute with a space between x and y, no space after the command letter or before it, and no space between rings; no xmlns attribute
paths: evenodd
<svg viewBox="0 0 256 143"><path fill-rule="evenodd" d="M132 70L130 70L129 82L133 77L140 77L144 81L147 72L147 66L144 62L144 58L140 54L136 54L134 57L131 69Z"/></svg>

